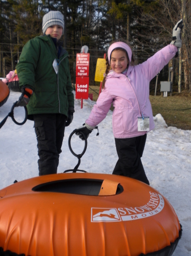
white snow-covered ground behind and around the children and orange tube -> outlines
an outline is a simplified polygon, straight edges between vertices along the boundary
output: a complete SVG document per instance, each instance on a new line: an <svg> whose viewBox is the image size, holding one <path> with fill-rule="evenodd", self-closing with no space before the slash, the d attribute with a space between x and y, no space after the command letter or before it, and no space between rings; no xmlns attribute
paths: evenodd
<svg viewBox="0 0 191 256"><path fill-rule="evenodd" d="M10 97L0 108L0 122L10 112L12 104L20 93L10 92ZM75 100L74 119L66 127L60 155L58 172L73 169L78 159L71 154L68 138L71 132L81 126L91 112L94 101ZM17 112L17 113L16 113ZM24 108L15 109L15 117L24 115ZM19 119L18 119L19 120ZM191 131L167 127L162 115L154 117L155 129L147 135L142 162L151 187L164 195L175 209L182 225L182 237L173 256L191 255ZM20 120L21 121L21 120ZM117 152L112 133L112 112L99 125L100 135L94 130L88 138L86 153L82 156L80 170L112 174L117 162ZM71 146L77 154L84 143L77 136L71 139ZM9 117L0 130L0 189L14 180L38 176L36 135L33 122L23 126L15 125Z"/></svg>

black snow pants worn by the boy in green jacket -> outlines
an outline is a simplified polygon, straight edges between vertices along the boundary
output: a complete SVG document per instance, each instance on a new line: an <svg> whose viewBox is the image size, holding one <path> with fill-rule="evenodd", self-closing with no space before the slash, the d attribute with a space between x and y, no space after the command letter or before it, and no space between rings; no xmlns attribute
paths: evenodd
<svg viewBox="0 0 191 256"><path fill-rule="evenodd" d="M63 114L34 114L39 176L56 174L67 117Z"/></svg>

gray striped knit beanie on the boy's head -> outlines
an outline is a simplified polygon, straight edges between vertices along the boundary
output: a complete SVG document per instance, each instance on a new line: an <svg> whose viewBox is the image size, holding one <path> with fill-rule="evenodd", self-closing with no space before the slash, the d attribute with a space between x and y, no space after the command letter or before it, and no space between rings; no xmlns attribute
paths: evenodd
<svg viewBox="0 0 191 256"><path fill-rule="evenodd" d="M53 25L59 25L63 28L63 15L60 11L49 11L43 16L43 34L45 34L48 27ZM63 34L63 30L62 30Z"/></svg>

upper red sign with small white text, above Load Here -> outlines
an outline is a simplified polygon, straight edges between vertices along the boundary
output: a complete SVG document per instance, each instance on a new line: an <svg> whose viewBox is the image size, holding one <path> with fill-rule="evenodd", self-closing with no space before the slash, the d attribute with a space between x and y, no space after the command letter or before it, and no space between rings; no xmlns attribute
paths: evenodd
<svg viewBox="0 0 191 256"><path fill-rule="evenodd" d="M76 76L89 76L90 53L77 53Z"/></svg>

